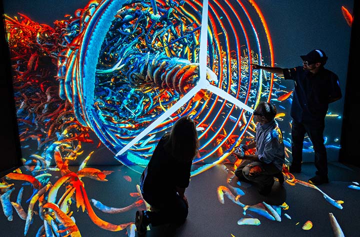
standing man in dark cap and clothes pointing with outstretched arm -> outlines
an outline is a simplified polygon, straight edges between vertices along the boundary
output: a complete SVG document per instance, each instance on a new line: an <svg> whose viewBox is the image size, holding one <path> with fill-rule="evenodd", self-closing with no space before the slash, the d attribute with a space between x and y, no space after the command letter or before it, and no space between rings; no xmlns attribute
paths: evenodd
<svg viewBox="0 0 360 237"><path fill-rule="evenodd" d="M284 75L285 80L294 81L294 93L291 104L292 163L289 172L300 173L302 146L305 133L310 138L315 155L315 176L308 180L310 184L328 183L327 155L323 131L328 104L341 98L338 77L325 69L327 60L321 49L311 50L300 56L302 66L294 68L266 67L252 64L253 69Z"/></svg>

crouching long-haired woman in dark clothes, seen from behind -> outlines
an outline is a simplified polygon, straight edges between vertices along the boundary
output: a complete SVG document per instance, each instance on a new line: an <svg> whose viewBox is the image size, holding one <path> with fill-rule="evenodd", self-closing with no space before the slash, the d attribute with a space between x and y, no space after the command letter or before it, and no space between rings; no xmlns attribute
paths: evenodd
<svg viewBox="0 0 360 237"><path fill-rule="evenodd" d="M178 119L171 132L161 137L140 178L141 194L151 208L136 212L139 236L146 233L149 224L158 226L185 221L188 214L185 189L198 148L195 123L187 116Z"/></svg>

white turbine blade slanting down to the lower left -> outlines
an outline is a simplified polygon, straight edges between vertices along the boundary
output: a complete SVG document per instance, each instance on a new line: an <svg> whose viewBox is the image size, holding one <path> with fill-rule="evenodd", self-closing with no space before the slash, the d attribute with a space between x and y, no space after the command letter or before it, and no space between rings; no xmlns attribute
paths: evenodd
<svg viewBox="0 0 360 237"><path fill-rule="evenodd" d="M126 144L115 156L119 156L125 151L127 151L130 147L132 147L136 142L140 141L141 138L146 136L152 129L156 128L162 121L164 121L171 114L176 112L181 106L183 106L187 101L189 101L199 90L200 86L195 86L191 90L189 90L181 99L179 99L174 105L172 105L166 112L160 115L155 121L153 121L148 127L146 127L139 135L137 135L134 139L132 139L129 143Z"/></svg>

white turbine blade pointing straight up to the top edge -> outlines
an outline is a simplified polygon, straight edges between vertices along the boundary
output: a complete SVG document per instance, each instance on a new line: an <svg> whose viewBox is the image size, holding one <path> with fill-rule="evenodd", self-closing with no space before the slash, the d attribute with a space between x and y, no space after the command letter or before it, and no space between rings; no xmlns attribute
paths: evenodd
<svg viewBox="0 0 360 237"><path fill-rule="evenodd" d="M207 9L208 0L202 2L201 31L200 31L200 52L199 52L199 80L206 80L207 66Z"/></svg>

